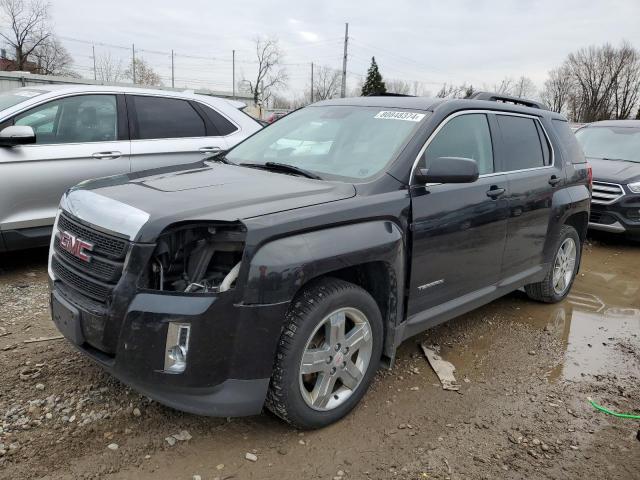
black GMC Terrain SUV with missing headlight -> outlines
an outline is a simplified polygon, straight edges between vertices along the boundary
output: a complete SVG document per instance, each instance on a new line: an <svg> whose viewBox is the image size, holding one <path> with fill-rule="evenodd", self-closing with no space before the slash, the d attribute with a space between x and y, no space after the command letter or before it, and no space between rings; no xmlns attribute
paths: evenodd
<svg viewBox="0 0 640 480"><path fill-rule="evenodd" d="M53 320L171 407L338 420L403 340L521 287L571 288L582 150L562 116L478 98L323 101L226 155L72 188Z"/></svg>

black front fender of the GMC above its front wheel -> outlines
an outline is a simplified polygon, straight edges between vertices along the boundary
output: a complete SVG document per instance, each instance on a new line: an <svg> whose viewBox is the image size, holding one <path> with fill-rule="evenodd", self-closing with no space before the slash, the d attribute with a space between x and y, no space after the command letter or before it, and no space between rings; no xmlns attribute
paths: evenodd
<svg viewBox="0 0 640 480"><path fill-rule="evenodd" d="M342 225L279 238L251 259L243 303L290 302L321 277L335 277L365 289L383 318L386 357L395 352L396 325L403 314L404 236L391 221Z"/></svg>

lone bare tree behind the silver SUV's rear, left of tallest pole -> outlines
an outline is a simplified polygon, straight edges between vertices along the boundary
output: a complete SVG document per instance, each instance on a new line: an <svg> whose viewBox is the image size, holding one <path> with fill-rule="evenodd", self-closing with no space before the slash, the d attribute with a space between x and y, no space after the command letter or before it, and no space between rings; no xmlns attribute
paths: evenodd
<svg viewBox="0 0 640 480"><path fill-rule="evenodd" d="M253 103L267 103L272 95L272 90L283 87L287 82L287 72L281 68L283 54L278 40L275 38L256 37L256 59L258 71L255 80L244 80L251 95Z"/></svg>

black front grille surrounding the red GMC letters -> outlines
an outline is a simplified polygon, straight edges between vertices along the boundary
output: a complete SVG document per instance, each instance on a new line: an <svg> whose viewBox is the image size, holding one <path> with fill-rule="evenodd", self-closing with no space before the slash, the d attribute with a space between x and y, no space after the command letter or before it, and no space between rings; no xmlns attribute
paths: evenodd
<svg viewBox="0 0 640 480"><path fill-rule="evenodd" d="M61 248L61 232L93 244L89 261ZM54 235L51 270L55 279L86 298L106 303L122 276L129 242L83 225L68 214L60 215Z"/></svg>

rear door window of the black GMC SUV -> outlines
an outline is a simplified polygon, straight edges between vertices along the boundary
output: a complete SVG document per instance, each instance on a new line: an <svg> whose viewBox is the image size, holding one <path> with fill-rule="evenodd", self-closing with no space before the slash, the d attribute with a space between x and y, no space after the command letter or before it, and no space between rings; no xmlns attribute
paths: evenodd
<svg viewBox="0 0 640 480"><path fill-rule="evenodd" d="M505 149L506 171L545 166L545 152L536 120L512 115L496 115L496 119Z"/></svg>

